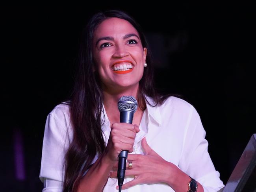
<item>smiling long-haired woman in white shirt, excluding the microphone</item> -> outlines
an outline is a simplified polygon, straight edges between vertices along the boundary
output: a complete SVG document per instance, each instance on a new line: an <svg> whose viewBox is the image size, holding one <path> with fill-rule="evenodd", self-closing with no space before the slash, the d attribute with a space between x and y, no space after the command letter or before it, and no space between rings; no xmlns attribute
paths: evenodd
<svg viewBox="0 0 256 192"><path fill-rule="evenodd" d="M43 191L117 191L123 150L123 191L222 188L195 108L156 93L148 43L134 19L118 10L97 13L84 34L70 102L47 116ZM133 124L119 123L117 102L125 95L138 101Z"/></svg>

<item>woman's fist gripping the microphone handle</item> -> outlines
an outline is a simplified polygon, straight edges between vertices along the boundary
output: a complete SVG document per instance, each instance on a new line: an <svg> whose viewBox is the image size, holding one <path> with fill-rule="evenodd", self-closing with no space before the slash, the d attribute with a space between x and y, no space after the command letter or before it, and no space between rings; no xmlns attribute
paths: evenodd
<svg viewBox="0 0 256 192"><path fill-rule="evenodd" d="M134 138L139 132L137 125L128 123L113 123L108 139L108 144L105 149L105 156L110 161L117 161L121 151L132 153L134 146ZM118 162L117 162L118 163Z"/></svg>

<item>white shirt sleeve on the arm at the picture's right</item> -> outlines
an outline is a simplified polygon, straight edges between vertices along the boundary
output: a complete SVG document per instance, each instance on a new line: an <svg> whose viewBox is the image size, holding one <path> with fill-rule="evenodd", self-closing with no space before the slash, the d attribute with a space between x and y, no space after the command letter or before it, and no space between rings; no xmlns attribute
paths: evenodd
<svg viewBox="0 0 256 192"><path fill-rule="evenodd" d="M185 173L197 180L204 188L204 192L216 192L224 187L215 170L208 153L208 141L205 139L206 131L202 126L200 116L191 107L191 119L184 136L184 146L179 167Z"/></svg>

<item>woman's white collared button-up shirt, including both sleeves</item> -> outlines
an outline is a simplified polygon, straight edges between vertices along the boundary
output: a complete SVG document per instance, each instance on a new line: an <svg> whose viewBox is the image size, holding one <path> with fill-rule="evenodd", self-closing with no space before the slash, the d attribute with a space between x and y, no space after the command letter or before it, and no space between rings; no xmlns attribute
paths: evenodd
<svg viewBox="0 0 256 192"><path fill-rule="evenodd" d="M150 103L153 101L147 97ZM205 192L215 192L224 187L219 179L219 172L215 170L207 151L208 142L206 132L195 108L186 101L169 97L162 105L152 107L146 102L147 109L143 113L134 142L135 154L144 154L141 150L141 140L147 138L148 145L163 159L175 164L180 170L197 180ZM106 144L110 134L110 122L106 114L102 131ZM103 118L103 114L102 114ZM47 116L41 171L39 178L44 183L43 192L61 192L63 177L63 160L65 151L72 140L72 127L69 118L69 106L57 105ZM98 154L98 153L97 153ZM93 163L97 159L97 155ZM124 183L133 177L126 176ZM103 192L114 192L117 179L108 178ZM123 192L171 192L174 191L166 183L154 185L135 185Z"/></svg>

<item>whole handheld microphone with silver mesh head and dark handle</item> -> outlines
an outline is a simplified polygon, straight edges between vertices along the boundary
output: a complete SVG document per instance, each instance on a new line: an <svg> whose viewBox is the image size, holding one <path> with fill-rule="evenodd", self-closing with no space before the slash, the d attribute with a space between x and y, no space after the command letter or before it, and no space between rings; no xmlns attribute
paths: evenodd
<svg viewBox="0 0 256 192"><path fill-rule="evenodd" d="M137 100L133 96L122 96L119 99L117 106L120 111L120 123L132 124L132 118L138 108ZM121 192L122 184L124 183L127 156L128 151L121 151L118 155L117 181L119 185L119 192Z"/></svg>

